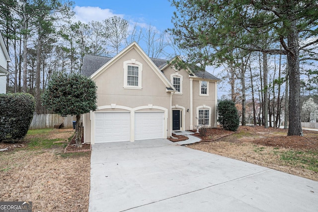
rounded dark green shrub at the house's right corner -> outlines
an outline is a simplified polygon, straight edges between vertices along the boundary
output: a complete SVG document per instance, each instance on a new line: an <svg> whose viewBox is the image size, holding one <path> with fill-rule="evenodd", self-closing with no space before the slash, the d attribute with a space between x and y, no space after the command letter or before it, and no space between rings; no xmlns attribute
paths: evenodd
<svg viewBox="0 0 318 212"><path fill-rule="evenodd" d="M219 123L225 130L237 131L239 115L235 103L231 100L221 100L218 104Z"/></svg>

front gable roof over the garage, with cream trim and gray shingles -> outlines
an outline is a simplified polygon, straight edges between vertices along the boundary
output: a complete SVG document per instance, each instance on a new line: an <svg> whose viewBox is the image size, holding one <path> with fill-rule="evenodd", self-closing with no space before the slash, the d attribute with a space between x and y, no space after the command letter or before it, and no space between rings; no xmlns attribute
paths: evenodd
<svg viewBox="0 0 318 212"><path fill-rule="evenodd" d="M164 74L159 70L157 65L147 56L147 54L141 49L141 47L133 42L115 57L100 57L88 55L83 58L83 66L81 73L83 75L89 76L90 78L96 78L100 73L107 70L107 67L116 63L123 55L125 55L130 50L135 49L139 55L146 61L146 63L152 68L152 70L159 76L161 81L165 84L167 90L174 91L172 83L164 76ZM163 63L163 61L156 60L156 63Z"/></svg>

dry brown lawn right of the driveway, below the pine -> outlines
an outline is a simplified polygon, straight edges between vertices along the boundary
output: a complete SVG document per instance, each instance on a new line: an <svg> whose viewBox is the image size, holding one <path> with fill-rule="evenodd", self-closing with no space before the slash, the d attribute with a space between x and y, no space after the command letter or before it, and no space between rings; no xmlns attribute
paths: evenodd
<svg viewBox="0 0 318 212"><path fill-rule="evenodd" d="M284 129L240 126L234 134L217 128L197 136L205 141L188 147L318 181L317 131L299 137L287 136Z"/></svg>

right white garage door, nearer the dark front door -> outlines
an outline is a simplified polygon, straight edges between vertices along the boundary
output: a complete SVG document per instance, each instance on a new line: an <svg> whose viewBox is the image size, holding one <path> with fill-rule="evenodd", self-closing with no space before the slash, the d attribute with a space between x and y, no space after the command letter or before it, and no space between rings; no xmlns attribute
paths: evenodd
<svg viewBox="0 0 318 212"><path fill-rule="evenodd" d="M163 112L135 113L135 140L161 139L164 131Z"/></svg>

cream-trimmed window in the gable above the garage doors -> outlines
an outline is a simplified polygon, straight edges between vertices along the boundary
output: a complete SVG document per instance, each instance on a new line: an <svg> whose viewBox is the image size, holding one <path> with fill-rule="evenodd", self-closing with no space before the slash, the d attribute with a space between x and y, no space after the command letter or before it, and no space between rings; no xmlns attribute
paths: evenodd
<svg viewBox="0 0 318 212"><path fill-rule="evenodd" d="M124 62L124 88L142 89L143 65L131 59Z"/></svg>

